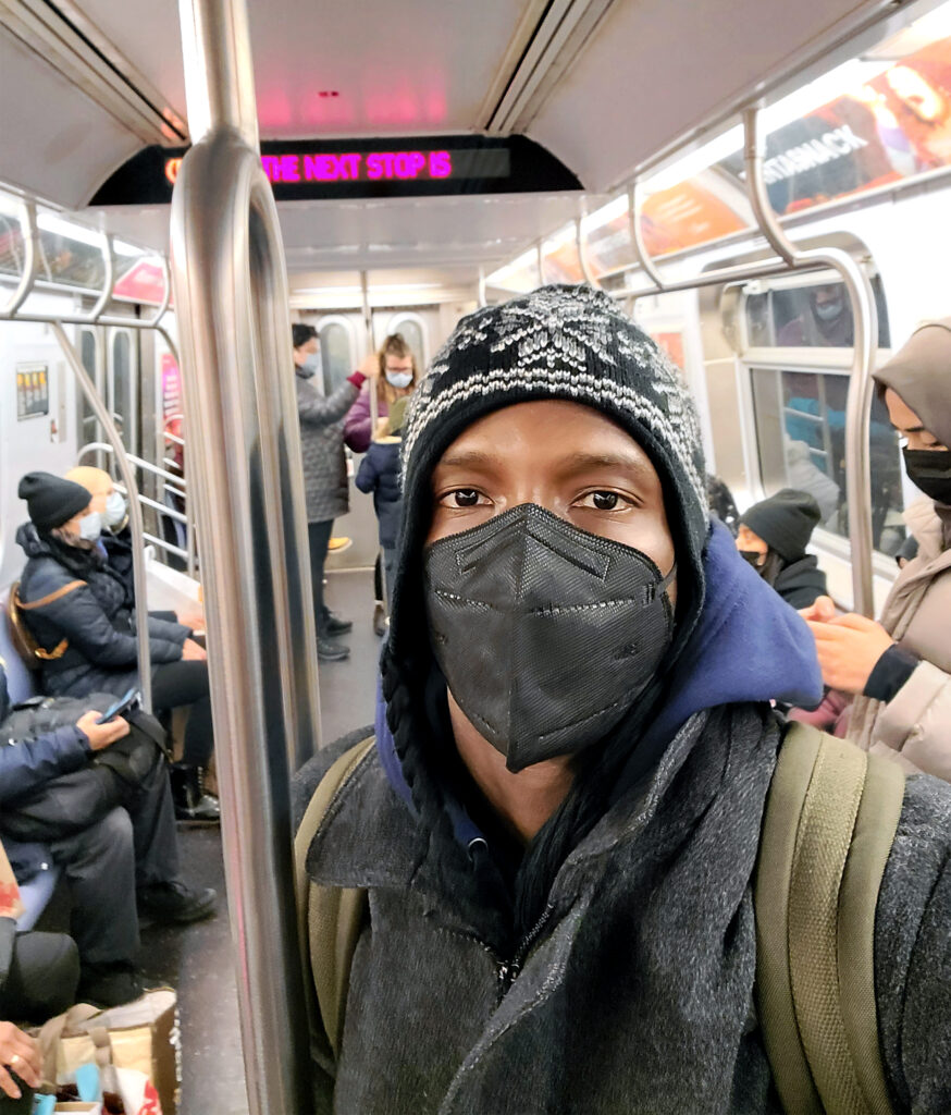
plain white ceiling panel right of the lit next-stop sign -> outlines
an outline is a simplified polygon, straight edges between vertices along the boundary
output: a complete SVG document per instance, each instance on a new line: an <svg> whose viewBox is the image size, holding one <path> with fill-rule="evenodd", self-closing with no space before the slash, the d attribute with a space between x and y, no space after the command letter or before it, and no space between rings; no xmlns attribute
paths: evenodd
<svg viewBox="0 0 951 1115"><path fill-rule="evenodd" d="M589 190L751 96L883 0L626 0L524 129ZM844 33L844 28L843 28Z"/></svg>

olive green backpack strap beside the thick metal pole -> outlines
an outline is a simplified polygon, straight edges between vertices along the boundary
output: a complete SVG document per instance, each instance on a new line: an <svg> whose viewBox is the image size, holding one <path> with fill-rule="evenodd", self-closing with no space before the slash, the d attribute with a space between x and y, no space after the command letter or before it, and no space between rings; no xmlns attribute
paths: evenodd
<svg viewBox="0 0 951 1115"><path fill-rule="evenodd" d="M317 784L294 837L298 939L304 972L312 973L316 996L316 1004L306 996L311 1035L318 1046L326 1043L334 1058L343 1034L350 967L366 917L366 891L317 886L307 875L307 852L334 798L374 744L370 736L336 759Z"/></svg>

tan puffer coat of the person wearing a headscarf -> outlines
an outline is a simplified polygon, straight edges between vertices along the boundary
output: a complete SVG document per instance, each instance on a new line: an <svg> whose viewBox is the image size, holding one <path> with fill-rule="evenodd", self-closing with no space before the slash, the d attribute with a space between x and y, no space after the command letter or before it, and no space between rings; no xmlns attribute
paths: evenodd
<svg viewBox="0 0 951 1115"><path fill-rule="evenodd" d="M855 698L849 738L906 770L951 782L951 549L930 500L913 503L904 518L918 556L899 573L880 622L921 662L890 701Z"/></svg>

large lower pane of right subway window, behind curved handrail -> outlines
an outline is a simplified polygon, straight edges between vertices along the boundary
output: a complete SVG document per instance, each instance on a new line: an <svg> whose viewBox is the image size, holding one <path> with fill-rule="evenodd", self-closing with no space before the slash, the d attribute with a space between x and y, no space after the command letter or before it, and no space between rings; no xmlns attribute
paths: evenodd
<svg viewBox="0 0 951 1115"><path fill-rule="evenodd" d="M752 367L759 473L768 495L783 487L810 492L821 525L849 537L845 488L845 399L849 375ZM893 555L905 537L899 440L875 396L870 427L872 541Z"/></svg>

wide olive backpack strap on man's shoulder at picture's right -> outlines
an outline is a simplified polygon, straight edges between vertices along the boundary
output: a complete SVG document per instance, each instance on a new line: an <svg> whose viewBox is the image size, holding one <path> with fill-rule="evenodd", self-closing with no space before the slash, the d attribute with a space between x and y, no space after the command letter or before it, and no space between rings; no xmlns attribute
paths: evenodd
<svg viewBox="0 0 951 1115"><path fill-rule="evenodd" d="M891 1115L875 1007L875 906L904 774L793 724L756 867L756 993L790 1115Z"/></svg>

